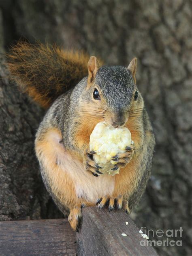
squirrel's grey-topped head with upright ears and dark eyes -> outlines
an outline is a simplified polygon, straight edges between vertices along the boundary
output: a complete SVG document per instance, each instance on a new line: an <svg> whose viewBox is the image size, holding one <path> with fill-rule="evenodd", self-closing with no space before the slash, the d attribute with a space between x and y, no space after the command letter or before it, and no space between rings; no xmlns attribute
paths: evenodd
<svg viewBox="0 0 192 256"><path fill-rule="evenodd" d="M84 110L92 115L94 121L105 121L113 127L122 127L130 118L142 115L143 98L136 86L136 71L136 58L132 59L128 68L99 67L96 57L90 58L87 87L82 100L88 103L83 104Z"/></svg>

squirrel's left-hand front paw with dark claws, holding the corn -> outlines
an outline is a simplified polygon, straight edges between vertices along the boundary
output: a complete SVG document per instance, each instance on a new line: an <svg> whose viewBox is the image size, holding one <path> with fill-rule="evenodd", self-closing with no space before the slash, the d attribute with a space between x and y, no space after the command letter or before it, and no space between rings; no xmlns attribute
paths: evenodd
<svg viewBox="0 0 192 256"><path fill-rule="evenodd" d="M102 167L98 166L98 164L96 164L96 162L94 161L93 159L94 154L95 154L94 151L85 150L84 166L87 171L90 171L92 173L92 175L94 175L95 177L98 177L99 174L102 174L102 172L99 171L102 169Z"/></svg>

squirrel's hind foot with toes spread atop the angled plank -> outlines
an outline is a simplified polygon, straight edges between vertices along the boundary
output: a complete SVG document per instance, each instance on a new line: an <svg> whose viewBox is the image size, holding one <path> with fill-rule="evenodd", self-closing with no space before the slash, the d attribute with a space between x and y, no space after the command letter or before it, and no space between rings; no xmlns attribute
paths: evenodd
<svg viewBox="0 0 192 256"><path fill-rule="evenodd" d="M114 209L120 210L123 209L126 213L130 213L128 201L123 199L122 195L118 195L117 197L104 196L98 198L96 205L99 209L108 206L109 212Z"/></svg>

